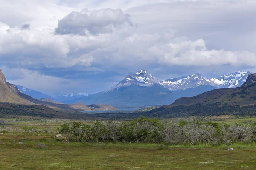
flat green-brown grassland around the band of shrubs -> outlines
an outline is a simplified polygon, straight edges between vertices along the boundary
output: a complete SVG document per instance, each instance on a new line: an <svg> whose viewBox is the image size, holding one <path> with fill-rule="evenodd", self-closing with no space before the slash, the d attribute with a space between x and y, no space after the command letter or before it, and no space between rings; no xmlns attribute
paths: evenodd
<svg viewBox="0 0 256 170"><path fill-rule="evenodd" d="M28 119L28 118L26 118ZM256 118L222 119L221 122L245 122ZM17 121L9 119L0 127L36 126L38 132L15 135L3 133L0 136L0 169L4 170L254 170L256 166L256 146L235 144L232 151L225 146L168 146L156 143L130 142L70 142L53 140L63 119L29 119ZM88 124L92 122L86 122ZM49 133L42 130L48 129ZM19 144L23 142L24 144ZM47 148L38 149L44 143ZM158 146L160 145L160 146Z"/></svg>

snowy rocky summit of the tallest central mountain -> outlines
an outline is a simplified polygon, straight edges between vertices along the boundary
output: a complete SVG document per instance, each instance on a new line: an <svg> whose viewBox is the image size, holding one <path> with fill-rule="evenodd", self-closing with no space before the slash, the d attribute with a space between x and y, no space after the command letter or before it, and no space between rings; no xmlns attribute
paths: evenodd
<svg viewBox="0 0 256 170"><path fill-rule="evenodd" d="M140 70L134 74L127 75L125 79L123 79L121 82L119 82L117 85L113 86L112 88L106 90L105 92L117 90L121 87L127 87L130 85L147 87L155 84L164 86L163 82L158 80L156 77L152 76L151 74L148 74L147 71L145 70Z"/></svg>

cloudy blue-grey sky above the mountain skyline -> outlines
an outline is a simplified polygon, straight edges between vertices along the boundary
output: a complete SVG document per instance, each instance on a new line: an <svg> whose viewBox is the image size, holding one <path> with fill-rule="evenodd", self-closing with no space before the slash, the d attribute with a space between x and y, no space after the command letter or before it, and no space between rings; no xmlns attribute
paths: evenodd
<svg viewBox="0 0 256 170"><path fill-rule="evenodd" d="M46 94L256 72L256 0L0 0L0 69Z"/></svg>

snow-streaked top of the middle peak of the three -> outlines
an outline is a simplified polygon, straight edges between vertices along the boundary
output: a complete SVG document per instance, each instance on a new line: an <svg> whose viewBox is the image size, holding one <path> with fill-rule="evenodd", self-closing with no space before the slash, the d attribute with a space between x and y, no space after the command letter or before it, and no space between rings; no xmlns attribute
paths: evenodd
<svg viewBox="0 0 256 170"><path fill-rule="evenodd" d="M212 80L197 73L190 76L182 76L179 78L163 80L162 83L171 91L181 91L199 86L208 85L215 88L220 88Z"/></svg>

